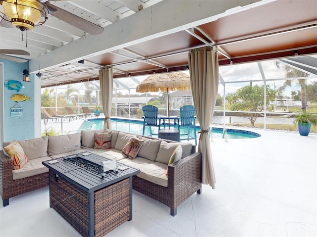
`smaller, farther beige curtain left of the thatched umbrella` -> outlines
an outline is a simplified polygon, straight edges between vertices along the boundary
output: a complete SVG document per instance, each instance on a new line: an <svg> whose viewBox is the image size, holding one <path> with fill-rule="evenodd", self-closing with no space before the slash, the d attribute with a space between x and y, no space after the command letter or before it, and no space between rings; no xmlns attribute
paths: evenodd
<svg viewBox="0 0 317 237"><path fill-rule="evenodd" d="M104 129L111 129L110 114L112 104L113 76L112 67L99 70L100 91L103 98L103 108L105 114Z"/></svg>

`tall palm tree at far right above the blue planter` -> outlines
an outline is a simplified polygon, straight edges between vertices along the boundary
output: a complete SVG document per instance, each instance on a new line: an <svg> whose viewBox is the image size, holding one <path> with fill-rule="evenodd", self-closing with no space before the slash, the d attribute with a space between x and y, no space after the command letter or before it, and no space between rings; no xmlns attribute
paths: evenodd
<svg viewBox="0 0 317 237"><path fill-rule="evenodd" d="M275 66L277 68L280 68L278 61L275 61ZM286 73L285 74L286 78L308 77L309 76L308 73L297 70L297 69L290 67L290 66L287 66L287 65L283 66L283 70ZM283 86L281 86L279 88L279 90L284 91L287 87L291 87L293 82L294 82L294 80L289 80L289 79L286 80L284 82ZM306 102L307 102L307 99L306 99L306 87L307 87L306 79L297 79L296 84L301 87L302 112L305 113L306 112Z"/></svg>

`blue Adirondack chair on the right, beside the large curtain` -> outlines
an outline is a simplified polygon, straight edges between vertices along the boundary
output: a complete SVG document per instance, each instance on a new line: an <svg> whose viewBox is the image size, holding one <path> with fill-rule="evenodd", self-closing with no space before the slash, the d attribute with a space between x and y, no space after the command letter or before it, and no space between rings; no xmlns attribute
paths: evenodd
<svg viewBox="0 0 317 237"><path fill-rule="evenodd" d="M197 134L196 134L196 110L194 105L184 105L179 108L180 118L179 118L179 138L180 140L193 140L195 139L195 145L197 145ZM185 128L185 129L184 129ZM191 133L191 128L194 130ZM187 131L184 133L183 131ZM184 136L186 136L184 138Z"/></svg>

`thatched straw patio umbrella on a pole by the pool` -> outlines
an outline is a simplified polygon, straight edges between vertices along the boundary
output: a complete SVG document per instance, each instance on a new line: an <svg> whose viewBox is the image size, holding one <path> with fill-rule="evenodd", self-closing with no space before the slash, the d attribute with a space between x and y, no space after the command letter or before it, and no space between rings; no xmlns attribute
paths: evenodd
<svg viewBox="0 0 317 237"><path fill-rule="evenodd" d="M136 87L136 92L167 92L167 106L169 117L168 91L190 90L190 78L183 72L153 74Z"/></svg>

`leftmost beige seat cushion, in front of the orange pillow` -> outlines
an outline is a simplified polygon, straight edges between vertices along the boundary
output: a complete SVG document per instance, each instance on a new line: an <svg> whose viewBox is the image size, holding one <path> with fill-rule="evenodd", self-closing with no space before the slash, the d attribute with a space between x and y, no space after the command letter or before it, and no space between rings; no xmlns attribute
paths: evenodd
<svg viewBox="0 0 317 237"><path fill-rule="evenodd" d="M51 157L44 156L29 160L19 170L12 170L13 180L19 180L33 175L49 172L49 169L42 164L42 161L51 160Z"/></svg>

